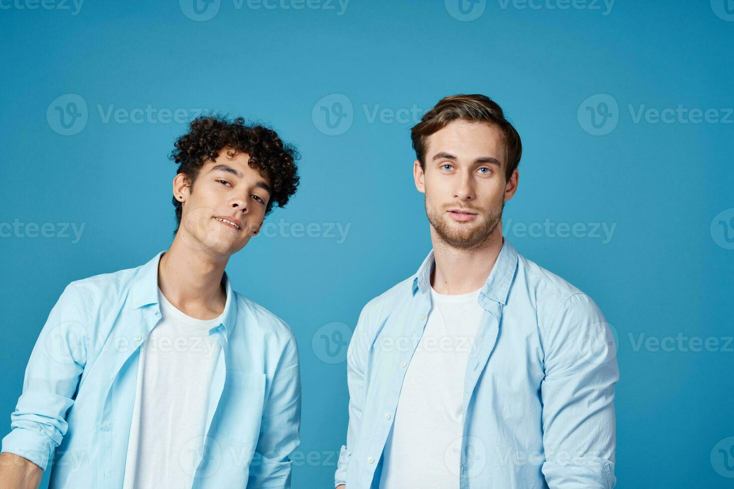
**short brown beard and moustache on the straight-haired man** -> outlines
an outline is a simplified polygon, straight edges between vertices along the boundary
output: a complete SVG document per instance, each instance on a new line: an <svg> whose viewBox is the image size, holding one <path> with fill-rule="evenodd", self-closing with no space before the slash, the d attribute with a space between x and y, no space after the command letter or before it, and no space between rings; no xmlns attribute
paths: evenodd
<svg viewBox="0 0 734 489"><path fill-rule="evenodd" d="M479 213L479 210L474 207L468 207L468 210L477 212L477 218L484 216L484 220L479 224L462 224L460 221L447 222L449 218L446 216L446 210L457 207L456 205L443 205L441 209L437 209L429 205L427 198L425 205L428 221L435 229L440 240L452 248L471 250L480 248L495 231L502 219L505 202L503 199L501 205L491 206L484 214Z"/></svg>

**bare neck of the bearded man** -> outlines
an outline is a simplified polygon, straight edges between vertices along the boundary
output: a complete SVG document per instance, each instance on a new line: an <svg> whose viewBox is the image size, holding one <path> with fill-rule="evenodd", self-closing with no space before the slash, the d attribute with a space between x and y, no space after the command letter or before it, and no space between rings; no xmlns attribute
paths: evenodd
<svg viewBox="0 0 734 489"><path fill-rule="evenodd" d="M502 249L502 223L499 222L489 238L476 249L448 246L431 227L433 256L436 260L431 274L433 290L440 294L457 295L481 289Z"/></svg>

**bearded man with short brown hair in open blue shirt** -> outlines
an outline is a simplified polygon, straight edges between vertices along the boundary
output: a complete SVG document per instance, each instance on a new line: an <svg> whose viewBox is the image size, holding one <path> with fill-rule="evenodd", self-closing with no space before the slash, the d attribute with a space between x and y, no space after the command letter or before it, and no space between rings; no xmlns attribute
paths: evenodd
<svg viewBox="0 0 734 489"><path fill-rule="evenodd" d="M520 136L490 98L454 95L412 138L433 249L360 315L335 485L612 488L608 324L502 236Z"/></svg>

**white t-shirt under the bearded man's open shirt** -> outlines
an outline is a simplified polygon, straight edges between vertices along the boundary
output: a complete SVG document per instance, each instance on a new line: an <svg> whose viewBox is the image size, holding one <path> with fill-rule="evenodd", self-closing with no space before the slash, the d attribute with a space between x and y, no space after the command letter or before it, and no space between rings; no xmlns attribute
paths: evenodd
<svg viewBox="0 0 734 489"><path fill-rule="evenodd" d="M481 290L481 289L480 289ZM479 290L439 294L405 372L380 489L459 488L464 377L484 309Z"/></svg>

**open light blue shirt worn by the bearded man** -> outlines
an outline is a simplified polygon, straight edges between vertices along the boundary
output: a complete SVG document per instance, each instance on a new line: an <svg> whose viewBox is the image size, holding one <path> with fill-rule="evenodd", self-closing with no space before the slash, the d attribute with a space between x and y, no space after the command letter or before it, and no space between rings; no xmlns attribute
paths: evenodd
<svg viewBox="0 0 734 489"><path fill-rule="evenodd" d="M431 311L434 263L431 251L418 273L360 314L347 350L349 427L335 485L379 485L403 378ZM446 467L460 488L614 487L619 372L611 328L594 301L504 240L479 305L484 316L457 379L460 464Z"/></svg>

